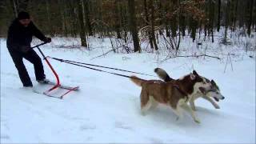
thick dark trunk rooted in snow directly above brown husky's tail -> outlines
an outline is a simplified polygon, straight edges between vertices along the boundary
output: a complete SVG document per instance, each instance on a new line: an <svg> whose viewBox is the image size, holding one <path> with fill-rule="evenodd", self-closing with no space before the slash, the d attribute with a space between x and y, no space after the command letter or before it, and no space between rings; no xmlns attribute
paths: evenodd
<svg viewBox="0 0 256 144"><path fill-rule="evenodd" d="M134 0L128 0L128 11L129 11L129 22L130 22L130 32L133 36L134 41L134 52L141 52L141 48L139 46L139 40L138 40L138 30L137 30L137 24L136 24L136 17L135 17L135 6L134 6Z"/></svg>

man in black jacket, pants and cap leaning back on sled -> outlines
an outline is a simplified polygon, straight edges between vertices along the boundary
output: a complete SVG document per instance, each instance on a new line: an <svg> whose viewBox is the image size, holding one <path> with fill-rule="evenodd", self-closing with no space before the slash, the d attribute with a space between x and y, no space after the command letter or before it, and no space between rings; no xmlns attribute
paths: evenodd
<svg viewBox="0 0 256 144"><path fill-rule="evenodd" d="M18 70L19 78L23 86L32 87L33 84L26 67L22 61L23 58L34 64L34 73L38 82L46 82L41 58L30 48L32 36L43 42L51 42L51 38L46 38L44 34L30 20L30 14L22 11L15 18L8 30L7 48L14 64Z"/></svg>

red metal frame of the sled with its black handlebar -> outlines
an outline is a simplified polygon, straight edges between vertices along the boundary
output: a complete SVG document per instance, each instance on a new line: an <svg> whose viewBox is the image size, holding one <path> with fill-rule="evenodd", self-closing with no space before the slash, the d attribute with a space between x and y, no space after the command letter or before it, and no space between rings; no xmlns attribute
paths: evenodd
<svg viewBox="0 0 256 144"><path fill-rule="evenodd" d="M49 90L46 90L45 92L43 92L43 94L49 96L49 97L53 97L53 98L60 98L62 99L66 94L69 94L71 91L74 91L74 90L78 90L79 86L75 86L75 87L62 87L62 85L60 84L60 80L58 78L58 74L56 73L56 71L54 70L54 67L51 66L50 62L48 61L48 57L45 56L45 54L42 53L42 50L39 48L39 46L42 46L44 44L46 44L47 42L43 42L42 44L39 44L37 46L33 46L31 48L38 48L39 52L42 54L42 57L43 59L46 61L47 65L50 67L50 70L54 73L54 76L56 78L56 84L51 87ZM56 97L56 96L53 96L53 95L50 95L50 92L52 92L53 90L57 90L58 88L62 88L62 89L66 89L66 93L62 94L60 97Z"/></svg>

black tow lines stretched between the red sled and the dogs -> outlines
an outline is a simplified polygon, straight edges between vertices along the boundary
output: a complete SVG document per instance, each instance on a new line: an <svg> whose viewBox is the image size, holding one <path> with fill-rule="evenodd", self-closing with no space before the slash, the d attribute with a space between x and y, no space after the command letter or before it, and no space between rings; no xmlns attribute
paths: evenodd
<svg viewBox="0 0 256 144"><path fill-rule="evenodd" d="M98 65L93 65L93 64L84 63L84 62L74 62L74 61L61 59L61 58L52 58L52 57L49 57L49 56L47 58L51 58L51 59L54 59L54 60L59 61L59 62L66 62L66 63L69 63L69 64L74 65L74 66L85 67L85 68L90 69L90 70L97 70L97 71L101 71L101 72L108 73L108 74L118 75L118 76L125 77L125 78L131 78L131 77L128 76L128 75L124 75L124 74L112 73L112 72L109 72L109 71L106 71L106 70L99 70L99 69L92 68L92 67L89 67L89 66L97 66L97 67L102 67L102 68L111 69L111 70L119 70L119 71L134 73L134 74L142 74L142 75L147 75L147 76L151 76L151 77L156 77L156 76L150 75L150 74L143 74L143 73L138 73L138 72L134 72L134 71L130 71L130 70L117 69L117 68L113 68L113 67L98 66ZM83 66L83 65L86 65L86 66ZM138 79L141 79L141 78L138 78Z"/></svg>

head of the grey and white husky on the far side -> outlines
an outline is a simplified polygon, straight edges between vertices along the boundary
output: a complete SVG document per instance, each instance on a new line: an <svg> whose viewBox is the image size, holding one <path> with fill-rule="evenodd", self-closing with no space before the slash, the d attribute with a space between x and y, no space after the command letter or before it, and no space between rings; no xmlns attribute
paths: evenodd
<svg viewBox="0 0 256 144"><path fill-rule="evenodd" d="M209 80L208 80L209 81ZM199 87L199 90L201 90L201 92L203 94L206 95L206 97L212 97L214 98L215 101L219 101L220 99L223 100L225 97L221 94L218 85L216 84L216 82L214 82L214 80L210 81L210 89L205 89L203 87Z"/></svg>

